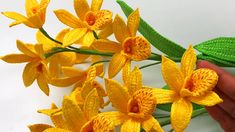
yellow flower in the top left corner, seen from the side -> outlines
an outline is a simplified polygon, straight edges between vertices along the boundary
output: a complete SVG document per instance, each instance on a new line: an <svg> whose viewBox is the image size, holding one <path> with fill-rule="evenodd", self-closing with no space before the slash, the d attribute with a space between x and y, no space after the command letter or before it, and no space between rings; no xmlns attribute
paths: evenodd
<svg viewBox="0 0 235 132"><path fill-rule="evenodd" d="M50 0L41 0L39 3L37 0L26 0L25 9L27 17L17 12L3 12L2 14L15 21L10 24L10 27L25 24L31 28L41 28L45 23L46 9Z"/></svg>

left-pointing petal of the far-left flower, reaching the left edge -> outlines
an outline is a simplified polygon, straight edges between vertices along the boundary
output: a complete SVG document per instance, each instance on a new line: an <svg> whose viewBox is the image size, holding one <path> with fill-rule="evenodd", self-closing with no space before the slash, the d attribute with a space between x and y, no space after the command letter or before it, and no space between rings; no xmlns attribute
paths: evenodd
<svg viewBox="0 0 235 132"><path fill-rule="evenodd" d="M33 60L32 57L24 54L9 54L1 57L1 59L7 63L24 63Z"/></svg>

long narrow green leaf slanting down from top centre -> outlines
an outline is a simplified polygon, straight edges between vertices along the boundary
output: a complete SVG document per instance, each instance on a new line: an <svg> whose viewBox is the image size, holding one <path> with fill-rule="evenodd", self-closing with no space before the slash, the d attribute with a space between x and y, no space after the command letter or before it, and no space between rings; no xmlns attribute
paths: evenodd
<svg viewBox="0 0 235 132"><path fill-rule="evenodd" d="M124 1L117 0L117 3L121 6L126 16L129 16L133 12L133 9ZM185 52L183 47L159 34L142 18L140 19L138 30L155 48L171 57L180 58Z"/></svg>

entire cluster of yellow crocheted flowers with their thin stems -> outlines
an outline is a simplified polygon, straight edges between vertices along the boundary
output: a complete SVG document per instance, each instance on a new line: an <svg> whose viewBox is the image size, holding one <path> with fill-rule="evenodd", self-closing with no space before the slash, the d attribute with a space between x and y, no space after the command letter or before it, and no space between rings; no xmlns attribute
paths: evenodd
<svg viewBox="0 0 235 132"><path fill-rule="evenodd" d="M27 17L16 12L3 12L14 19L10 27L24 24L38 29L37 43L29 44L17 40L21 53L2 56L7 63L27 63L23 71L23 82L29 87L35 80L39 88L49 96L49 85L74 86L70 95L64 97L62 107L52 104L50 109L39 110L48 115L52 125L34 124L32 132L121 132L163 131L155 116L158 104L172 103L170 120L173 129L183 131L193 115L192 103L213 106L222 99L213 92L218 81L216 72L195 69L196 53L192 46L184 52L181 67L171 57L160 56L162 75L169 89L152 88L142 83L138 66L132 69L132 61L154 60L151 44L138 36L139 10L133 11L125 22L119 15L113 19L112 12L101 9L103 0L74 0L76 16L66 10L54 13L68 28L55 38L43 29L49 0L26 0ZM114 34L116 40L110 40ZM108 58L108 60L106 60ZM109 62L110 61L110 62ZM109 62L108 77L104 63ZM81 63L91 63L87 70L80 70ZM123 84L113 80L122 70ZM104 79L105 86L96 80ZM105 101L108 99L108 101ZM112 104L116 111L104 111Z"/></svg>

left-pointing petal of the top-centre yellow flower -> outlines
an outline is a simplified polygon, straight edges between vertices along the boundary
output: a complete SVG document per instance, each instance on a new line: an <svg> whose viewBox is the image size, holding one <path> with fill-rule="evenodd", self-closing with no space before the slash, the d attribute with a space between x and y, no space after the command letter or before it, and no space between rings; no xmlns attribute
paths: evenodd
<svg viewBox="0 0 235 132"><path fill-rule="evenodd" d="M71 27L71 28L81 28L84 27L84 24L81 20L76 18L74 15L69 13L66 10L60 9L54 11L56 17L65 25Z"/></svg>

